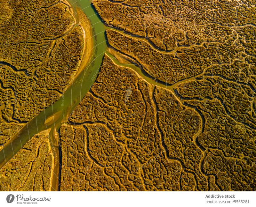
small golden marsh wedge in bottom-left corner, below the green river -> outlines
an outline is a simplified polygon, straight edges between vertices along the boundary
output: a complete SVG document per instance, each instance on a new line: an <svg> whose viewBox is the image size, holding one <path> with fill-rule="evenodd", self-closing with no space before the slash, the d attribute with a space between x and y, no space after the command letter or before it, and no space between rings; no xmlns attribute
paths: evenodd
<svg viewBox="0 0 256 207"><path fill-rule="evenodd" d="M32 137L0 170L1 191L50 191L53 154L48 136Z"/></svg>

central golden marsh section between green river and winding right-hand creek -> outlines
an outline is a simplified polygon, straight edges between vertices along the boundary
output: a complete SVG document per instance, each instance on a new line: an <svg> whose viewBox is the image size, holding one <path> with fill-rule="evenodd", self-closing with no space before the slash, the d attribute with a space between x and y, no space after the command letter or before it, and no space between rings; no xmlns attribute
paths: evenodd
<svg viewBox="0 0 256 207"><path fill-rule="evenodd" d="M201 171L200 115L107 55L69 123L78 126L60 129L61 190L220 190Z"/></svg>

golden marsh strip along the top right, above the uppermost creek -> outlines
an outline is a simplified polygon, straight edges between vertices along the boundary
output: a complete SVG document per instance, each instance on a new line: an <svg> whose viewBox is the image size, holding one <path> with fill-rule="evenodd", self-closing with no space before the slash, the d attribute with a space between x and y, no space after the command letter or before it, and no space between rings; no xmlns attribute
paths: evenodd
<svg viewBox="0 0 256 207"><path fill-rule="evenodd" d="M230 41L236 35L232 31L236 27L255 31L254 0L93 0L92 3L108 25L145 37L166 51L183 45Z"/></svg>

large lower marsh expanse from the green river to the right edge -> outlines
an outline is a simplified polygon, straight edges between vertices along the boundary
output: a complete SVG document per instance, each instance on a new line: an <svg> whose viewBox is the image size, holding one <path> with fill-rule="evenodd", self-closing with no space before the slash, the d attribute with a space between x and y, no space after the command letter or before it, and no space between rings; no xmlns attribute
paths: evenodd
<svg viewBox="0 0 256 207"><path fill-rule="evenodd" d="M60 129L60 190L255 189L254 130L218 99L176 96L105 55Z"/></svg>

